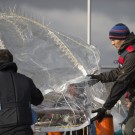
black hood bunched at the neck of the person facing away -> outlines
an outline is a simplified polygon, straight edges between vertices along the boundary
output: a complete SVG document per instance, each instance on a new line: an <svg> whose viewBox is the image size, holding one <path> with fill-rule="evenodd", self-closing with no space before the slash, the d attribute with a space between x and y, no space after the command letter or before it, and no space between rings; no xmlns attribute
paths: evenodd
<svg viewBox="0 0 135 135"><path fill-rule="evenodd" d="M0 62L0 71L14 71L17 72L17 65L14 62Z"/></svg>

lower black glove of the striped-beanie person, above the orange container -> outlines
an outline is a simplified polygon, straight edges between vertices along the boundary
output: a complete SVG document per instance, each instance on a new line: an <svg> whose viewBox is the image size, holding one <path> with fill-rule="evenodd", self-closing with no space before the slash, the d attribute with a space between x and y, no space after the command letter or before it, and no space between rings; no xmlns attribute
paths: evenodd
<svg viewBox="0 0 135 135"><path fill-rule="evenodd" d="M96 113L97 112L97 115L95 117L93 117L91 119L91 122L95 121L95 120L98 120L98 122L101 122L106 114L106 110L105 108L99 108L97 110L92 110L92 113Z"/></svg>

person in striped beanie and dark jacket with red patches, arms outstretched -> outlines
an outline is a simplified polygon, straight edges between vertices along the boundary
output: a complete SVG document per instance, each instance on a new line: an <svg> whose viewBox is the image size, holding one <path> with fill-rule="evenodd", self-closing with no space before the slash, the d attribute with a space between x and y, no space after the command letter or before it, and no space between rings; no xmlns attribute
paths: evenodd
<svg viewBox="0 0 135 135"><path fill-rule="evenodd" d="M98 120L101 122L106 111L110 110L124 93L130 90L132 105L129 109L125 135L135 135L135 35L130 32L125 24L119 23L112 27L109 38L112 45L118 49L120 55L118 59L119 67L110 72L88 75L102 83L115 82L103 107L92 111L93 113L97 112L97 115L91 121Z"/></svg>

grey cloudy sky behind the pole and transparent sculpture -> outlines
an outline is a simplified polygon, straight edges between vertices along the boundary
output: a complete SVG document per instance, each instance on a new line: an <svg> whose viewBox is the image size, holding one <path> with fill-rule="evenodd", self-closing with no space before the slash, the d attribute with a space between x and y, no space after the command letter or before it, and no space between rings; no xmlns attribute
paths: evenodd
<svg viewBox="0 0 135 135"><path fill-rule="evenodd" d="M18 12L87 42L87 0L0 0L2 10L15 5ZM100 51L101 66L117 66L117 50L108 32L120 22L135 31L134 7L134 0L91 0L91 43Z"/></svg>

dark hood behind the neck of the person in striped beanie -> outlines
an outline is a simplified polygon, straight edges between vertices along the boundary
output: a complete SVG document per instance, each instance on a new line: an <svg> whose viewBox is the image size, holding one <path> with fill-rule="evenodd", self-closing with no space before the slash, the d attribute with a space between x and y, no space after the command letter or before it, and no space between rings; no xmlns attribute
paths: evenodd
<svg viewBox="0 0 135 135"><path fill-rule="evenodd" d="M129 37L125 40L125 42L121 45L118 50L118 54L120 55L129 45L135 44L135 35L133 32L130 33Z"/></svg>

